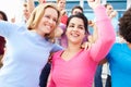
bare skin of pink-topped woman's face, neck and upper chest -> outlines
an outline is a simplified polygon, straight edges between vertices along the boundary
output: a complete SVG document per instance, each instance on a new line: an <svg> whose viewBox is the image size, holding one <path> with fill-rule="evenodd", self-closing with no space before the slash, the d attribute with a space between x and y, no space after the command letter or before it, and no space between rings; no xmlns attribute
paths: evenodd
<svg viewBox="0 0 131 87"><path fill-rule="evenodd" d="M68 37L68 48L61 54L61 58L68 61L82 49L81 44L85 37L83 20L73 17L69 23L66 34Z"/></svg>

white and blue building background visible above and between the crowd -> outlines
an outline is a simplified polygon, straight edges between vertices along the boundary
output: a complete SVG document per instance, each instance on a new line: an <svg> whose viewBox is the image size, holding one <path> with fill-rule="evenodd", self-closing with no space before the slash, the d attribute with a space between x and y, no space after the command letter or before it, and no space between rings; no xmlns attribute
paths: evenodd
<svg viewBox="0 0 131 87"><path fill-rule="evenodd" d="M21 22L23 11L22 7L25 1L26 0L0 0L0 10L8 14L9 21L15 17L15 22ZM37 5L38 1L34 1L35 5ZM46 0L46 2L56 2L56 0ZM110 3L114 9L118 11L116 18L119 18L131 5L131 0L102 0L102 3ZM94 18L93 11L88 8L86 0L67 0L67 14L70 15L71 9L78 4L84 9L84 13L90 20Z"/></svg>

